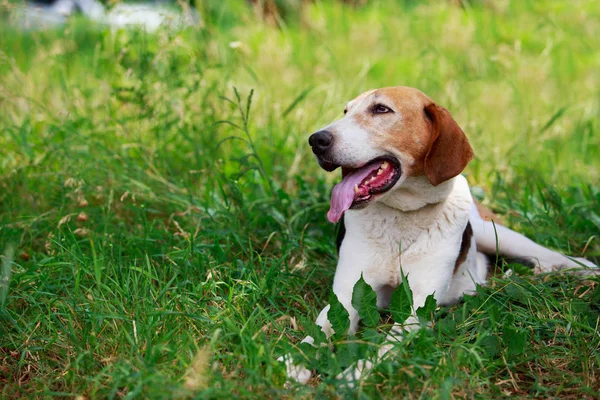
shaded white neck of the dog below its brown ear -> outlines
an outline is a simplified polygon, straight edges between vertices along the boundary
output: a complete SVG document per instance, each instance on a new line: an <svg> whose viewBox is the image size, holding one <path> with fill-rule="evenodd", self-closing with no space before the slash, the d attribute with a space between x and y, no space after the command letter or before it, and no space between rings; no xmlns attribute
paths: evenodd
<svg viewBox="0 0 600 400"><path fill-rule="evenodd" d="M452 192L456 178L433 186L425 176L408 177L381 202L402 212L415 211L444 201Z"/></svg>

